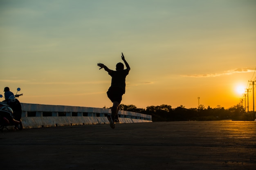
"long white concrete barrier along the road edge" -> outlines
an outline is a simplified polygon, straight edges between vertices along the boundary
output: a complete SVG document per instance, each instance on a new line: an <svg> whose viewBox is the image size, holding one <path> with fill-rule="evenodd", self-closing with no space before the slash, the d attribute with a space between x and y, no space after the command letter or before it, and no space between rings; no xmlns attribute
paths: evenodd
<svg viewBox="0 0 256 170"><path fill-rule="evenodd" d="M23 128L109 124L111 109L21 103ZM150 115L119 111L120 123L152 122Z"/></svg>

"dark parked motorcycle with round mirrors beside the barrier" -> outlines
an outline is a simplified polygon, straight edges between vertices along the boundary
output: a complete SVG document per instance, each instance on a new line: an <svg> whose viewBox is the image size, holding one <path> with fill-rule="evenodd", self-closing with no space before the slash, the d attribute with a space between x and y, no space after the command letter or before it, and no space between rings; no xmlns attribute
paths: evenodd
<svg viewBox="0 0 256 170"><path fill-rule="evenodd" d="M14 126L14 129L22 130L21 113L22 108L20 101L17 99L23 94L17 94L20 88L17 88L17 92L14 96L10 96L8 100L0 102L0 131L4 128L8 130L7 126ZM0 98L2 98L0 94Z"/></svg>

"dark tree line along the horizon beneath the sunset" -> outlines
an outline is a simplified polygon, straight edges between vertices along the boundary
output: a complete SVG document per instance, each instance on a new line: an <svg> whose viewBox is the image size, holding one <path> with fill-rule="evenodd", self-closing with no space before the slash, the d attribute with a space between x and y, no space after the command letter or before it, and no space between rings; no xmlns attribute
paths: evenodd
<svg viewBox="0 0 256 170"><path fill-rule="evenodd" d="M245 112L241 105L225 109L218 105L216 108L199 105L198 108L186 109L184 106L172 108L170 105L148 106L146 109L135 105L119 105L120 110L132 111L152 116L153 122L163 121L207 121L207 120L254 120L256 112Z"/></svg>

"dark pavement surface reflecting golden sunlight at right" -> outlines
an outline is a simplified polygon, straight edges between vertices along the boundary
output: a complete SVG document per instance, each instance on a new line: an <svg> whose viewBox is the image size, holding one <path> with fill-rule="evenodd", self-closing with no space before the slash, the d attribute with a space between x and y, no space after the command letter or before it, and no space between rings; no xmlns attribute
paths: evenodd
<svg viewBox="0 0 256 170"><path fill-rule="evenodd" d="M58 126L0 133L4 170L255 170L256 122Z"/></svg>

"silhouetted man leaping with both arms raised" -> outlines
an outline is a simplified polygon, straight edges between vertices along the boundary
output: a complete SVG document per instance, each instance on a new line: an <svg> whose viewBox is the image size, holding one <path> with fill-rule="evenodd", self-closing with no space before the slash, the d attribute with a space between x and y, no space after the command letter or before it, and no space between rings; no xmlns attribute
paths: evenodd
<svg viewBox="0 0 256 170"><path fill-rule="evenodd" d="M104 70L108 72L108 74L112 77L111 86L109 87L107 92L108 98L113 103L113 106L111 108L111 115L108 115L108 121L112 129L115 128L115 122L119 122L117 113L119 111L119 105L121 103L122 96L123 94L125 94L125 79L130 71L130 66L125 60L123 53L121 55L121 59L124 61L126 69L124 69L123 63L117 63L116 71L110 70L106 65L102 63L97 64L100 69L104 68Z"/></svg>

